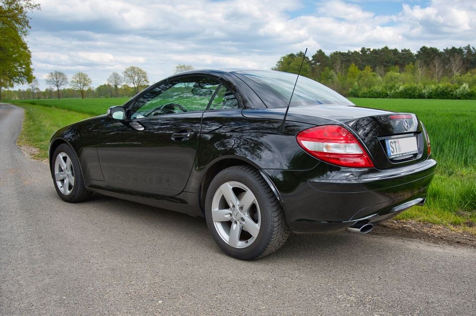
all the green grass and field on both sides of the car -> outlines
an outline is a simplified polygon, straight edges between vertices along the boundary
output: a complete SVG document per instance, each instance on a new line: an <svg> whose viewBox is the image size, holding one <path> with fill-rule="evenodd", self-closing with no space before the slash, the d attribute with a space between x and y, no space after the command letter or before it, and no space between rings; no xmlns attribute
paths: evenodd
<svg viewBox="0 0 476 316"><path fill-rule="evenodd" d="M61 126L92 115L126 99L62 99L12 102L26 109L20 142L47 156L48 141ZM430 135L437 174L424 207L414 207L401 219L444 224L476 234L476 101L414 99L351 99L356 105L415 113Z"/></svg>

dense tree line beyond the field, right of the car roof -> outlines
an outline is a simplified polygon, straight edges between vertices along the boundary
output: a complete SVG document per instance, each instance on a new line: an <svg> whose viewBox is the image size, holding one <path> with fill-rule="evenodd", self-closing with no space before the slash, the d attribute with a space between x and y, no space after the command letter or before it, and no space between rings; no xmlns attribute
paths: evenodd
<svg viewBox="0 0 476 316"><path fill-rule="evenodd" d="M282 56L272 68L297 73L304 53ZM476 99L476 50L422 46L409 49L318 50L305 56L301 75L350 97Z"/></svg>

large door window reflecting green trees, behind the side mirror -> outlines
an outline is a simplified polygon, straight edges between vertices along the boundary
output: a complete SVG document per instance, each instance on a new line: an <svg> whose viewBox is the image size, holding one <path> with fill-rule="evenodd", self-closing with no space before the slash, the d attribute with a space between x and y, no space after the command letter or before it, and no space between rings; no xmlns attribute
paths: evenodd
<svg viewBox="0 0 476 316"><path fill-rule="evenodd" d="M220 83L209 78L185 78L166 82L140 97L131 119L204 111Z"/></svg>

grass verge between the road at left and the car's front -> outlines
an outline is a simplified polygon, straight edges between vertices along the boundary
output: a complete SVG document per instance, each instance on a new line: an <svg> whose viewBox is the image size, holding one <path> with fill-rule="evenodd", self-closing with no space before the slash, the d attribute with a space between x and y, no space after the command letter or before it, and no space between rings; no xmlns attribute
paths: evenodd
<svg viewBox="0 0 476 316"><path fill-rule="evenodd" d="M33 158L48 158L50 138L61 127L91 117L89 114L68 111L56 107L15 103L25 109L23 127L18 137L19 145L38 148Z"/></svg>

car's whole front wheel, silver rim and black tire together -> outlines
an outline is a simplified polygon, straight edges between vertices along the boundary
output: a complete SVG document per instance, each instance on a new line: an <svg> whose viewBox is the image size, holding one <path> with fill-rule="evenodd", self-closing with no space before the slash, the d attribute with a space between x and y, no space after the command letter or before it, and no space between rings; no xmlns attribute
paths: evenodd
<svg viewBox="0 0 476 316"><path fill-rule="evenodd" d="M76 153L69 145L61 144L55 150L51 160L51 172L56 192L64 201L75 203L91 198L92 192L84 186Z"/></svg>

